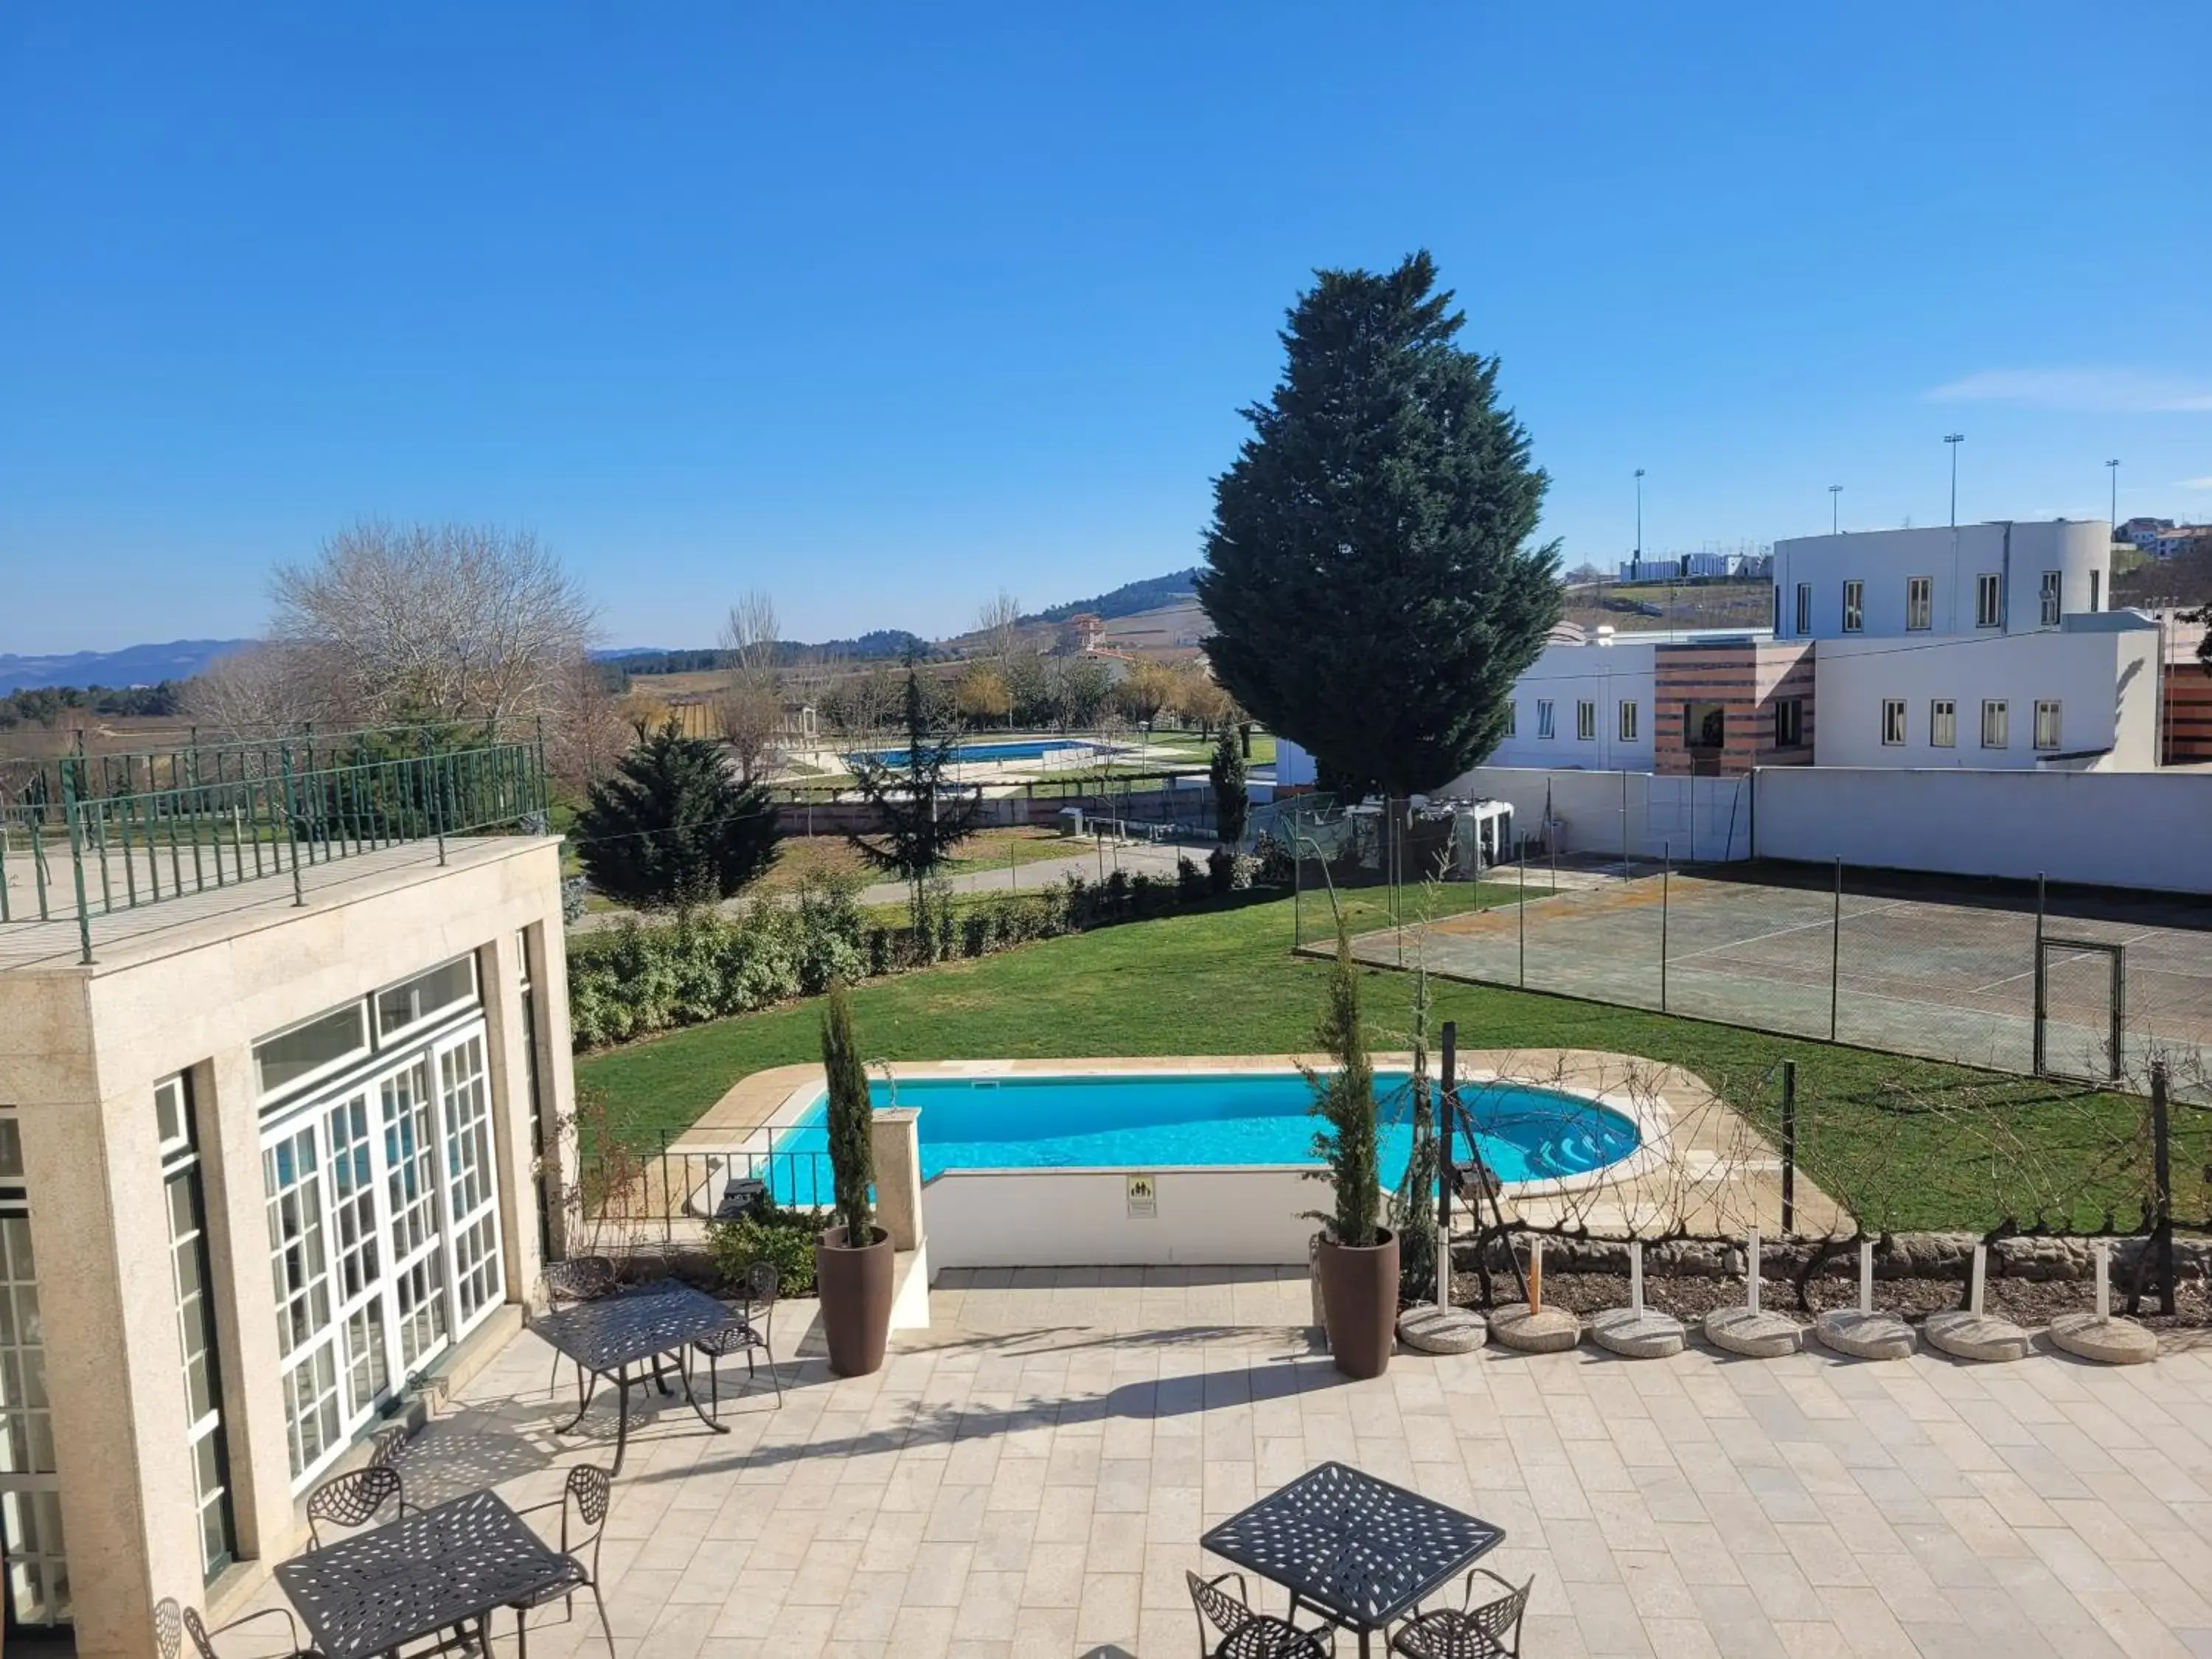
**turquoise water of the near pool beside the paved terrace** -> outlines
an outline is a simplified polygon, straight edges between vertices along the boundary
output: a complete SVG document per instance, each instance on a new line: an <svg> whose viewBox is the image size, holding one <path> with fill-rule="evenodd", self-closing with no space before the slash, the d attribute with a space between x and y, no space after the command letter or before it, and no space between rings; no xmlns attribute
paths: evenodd
<svg viewBox="0 0 2212 1659"><path fill-rule="evenodd" d="M891 1088L872 1082L876 1106ZM1378 1073L1383 1183L1396 1186L1413 1148L1405 1073ZM1462 1095L1482 1157L1504 1181L1542 1181L1604 1168L1637 1148L1621 1113L1548 1088L1484 1086ZM925 1077L898 1084L898 1104L922 1117L922 1177L942 1170L1108 1168L1188 1164L1314 1164L1312 1088L1294 1073ZM774 1133L768 1172L779 1201L810 1203L827 1168L823 1106ZM1467 1157L1464 1141L1458 1157ZM794 1157L785 1157L794 1155Z"/></svg>

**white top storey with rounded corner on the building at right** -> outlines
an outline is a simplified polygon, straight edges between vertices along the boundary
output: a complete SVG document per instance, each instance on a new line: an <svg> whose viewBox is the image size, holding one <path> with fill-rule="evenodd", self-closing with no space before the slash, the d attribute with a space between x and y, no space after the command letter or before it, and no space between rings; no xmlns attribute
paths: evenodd
<svg viewBox="0 0 2212 1659"><path fill-rule="evenodd" d="M1774 544L1778 639L1896 639L1905 628L1905 584L1933 580L1936 635L2028 633L2039 624L2044 571L2059 571L2059 611L2112 604L2112 526L2104 520L1949 524L1913 531L1798 535ZM1975 577L2004 577L2004 626L1975 626ZM2093 582L2095 577L2095 582ZM1865 626L1843 630L1843 584L1865 582ZM1796 591L1812 586L1812 628L1798 630ZM2095 586L2095 595L2090 588ZM2095 604L2090 602L2095 597Z"/></svg>

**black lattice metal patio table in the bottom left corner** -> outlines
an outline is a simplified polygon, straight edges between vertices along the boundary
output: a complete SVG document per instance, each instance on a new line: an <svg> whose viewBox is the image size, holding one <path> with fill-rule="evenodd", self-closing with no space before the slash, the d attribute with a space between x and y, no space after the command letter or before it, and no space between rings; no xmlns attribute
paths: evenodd
<svg viewBox="0 0 2212 1659"><path fill-rule="evenodd" d="M469 1624L489 1635L493 1613L564 1579L566 1559L489 1491L341 1537L276 1568L276 1584L327 1659L374 1659ZM515 1641L529 1641L520 1608Z"/></svg>

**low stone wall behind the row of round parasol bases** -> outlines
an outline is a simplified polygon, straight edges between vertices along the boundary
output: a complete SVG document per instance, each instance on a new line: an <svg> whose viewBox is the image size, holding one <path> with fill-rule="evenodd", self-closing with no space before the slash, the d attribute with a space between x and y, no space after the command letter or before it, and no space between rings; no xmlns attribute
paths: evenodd
<svg viewBox="0 0 2212 1659"><path fill-rule="evenodd" d="M1526 1261L1526 1241L1533 1234L1517 1234L1515 1248ZM1982 1243L1978 1232L1898 1232L1874 1250L1876 1279L1960 1279L1973 1267L1973 1248ZM2112 1281L2126 1283L2135 1272L2137 1256L2148 1248L2143 1237L2112 1239ZM1763 1239L1759 1245L1759 1276L1794 1281L1805 1263L1820 1250L1816 1239ZM1453 1265L1462 1272L1475 1270L1475 1245L1455 1243ZM1504 1270L1506 1250L1502 1243L1489 1248L1491 1270ZM1644 1272L1681 1279L1739 1279L1745 1267L1743 1245L1703 1239L1679 1239L1644 1248ZM1628 1245L1610 1239L1555 1239L1544 1237L1546 1272L1628 1272ZM2090 1239L1997 1239L1989 1252L1989 1272L1997 1279L2026 1279L2044 1283L2088 1281L2097 1270L2097 1248ZM2174 1272L2181 1279L2212 1276L2212 1239L2174 1239ZM1834 1245L1820 1265L1823 1279L1849 1279L1858 1274L1858 1248Z"/></svg>

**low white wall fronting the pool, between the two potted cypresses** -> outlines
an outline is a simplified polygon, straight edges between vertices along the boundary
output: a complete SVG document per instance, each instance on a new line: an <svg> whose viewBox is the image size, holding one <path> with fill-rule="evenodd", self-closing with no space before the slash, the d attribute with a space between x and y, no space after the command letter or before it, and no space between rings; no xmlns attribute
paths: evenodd
<svg viewBox="0 0 2212 1659"><path fill-rule="evenodd" d="M947 1170L922 1188L929 1263L945 1267L1303 1265L1327 1188L1298 1168Z"/></svg>

